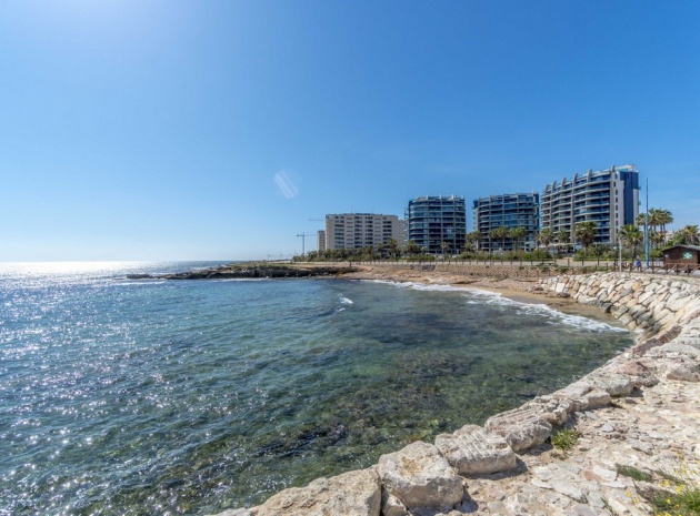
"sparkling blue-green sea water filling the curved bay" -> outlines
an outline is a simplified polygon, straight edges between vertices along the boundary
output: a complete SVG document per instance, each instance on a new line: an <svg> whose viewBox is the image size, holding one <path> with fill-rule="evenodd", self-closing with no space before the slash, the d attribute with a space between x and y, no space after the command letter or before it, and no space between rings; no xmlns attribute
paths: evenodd
<svg viewBox="0 0 700 516"><path fill-rule="evenodd" d="M0 515L206 515L551 393L630 346L601 314L218 262L0 264Z"/></svg>

